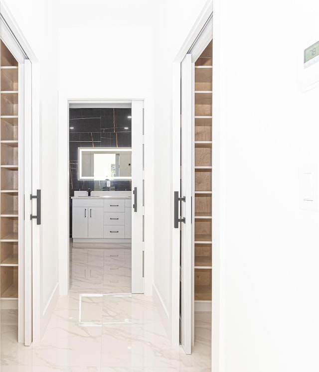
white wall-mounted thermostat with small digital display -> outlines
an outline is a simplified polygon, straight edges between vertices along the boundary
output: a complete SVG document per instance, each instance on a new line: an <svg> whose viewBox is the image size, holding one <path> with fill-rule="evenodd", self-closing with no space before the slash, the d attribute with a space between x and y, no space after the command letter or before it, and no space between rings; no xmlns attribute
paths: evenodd
<svg viewBox="0 0 319 372"><path fill-rule="evenodd" d="M298 75L303 92L319 87L319 37L301 43L298 51Z"/></svg>

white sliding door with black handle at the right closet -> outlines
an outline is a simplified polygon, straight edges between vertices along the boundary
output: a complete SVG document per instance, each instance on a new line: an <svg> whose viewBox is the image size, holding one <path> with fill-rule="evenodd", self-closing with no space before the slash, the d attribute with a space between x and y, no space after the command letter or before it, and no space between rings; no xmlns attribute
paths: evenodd
<svg viewBox="0 0 319 372"><path fill-rule="evenodd" d="M180 343L191 353L193 309L192 253L192 118L193 64L186 54L181 63L181 168L180 168ZM175 194L176 195L176 194ZM175 196L176 198L176 196ZM175 200L176 205L176 200Z"/></svg>

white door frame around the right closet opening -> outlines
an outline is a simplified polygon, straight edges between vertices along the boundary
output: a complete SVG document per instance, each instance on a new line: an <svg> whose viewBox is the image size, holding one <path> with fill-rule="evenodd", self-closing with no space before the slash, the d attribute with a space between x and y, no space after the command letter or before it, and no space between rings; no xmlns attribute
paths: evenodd
<svg viewBox="0 0 319 372"><path fill-rule="evenodd" d="M172 191L179 190L180 187L180 64L187 52L195 44L198 35L209 20L213 12L213 1L208 0L200 12L199 17L188 33L181 48L179 49L173 62L173 105L172 105ZM221 149L221 138L223 127L220 118L221 112L221 65L219 59L221 57L220 46L218 44L218 37L220 29L220 15L218 14L217 22L214 17L214 38L213 41L213 128L212 136L214 144L212 149L214 176L212 180L213 194L212 203L213 208L213 226L212 226L212 255L213 255L213 270L212 270L212 371L221 372L225 368L225 289L224 289L224 158ZM218 28L215 24L218 24ZM218 31L215 32L215 29ZM216 35L217 34L217 35ZM173 195L172 195L173 199ZM173 211L172 211L173 213ZM173 220L173 216L172 216ZM171 228L172 234L172 319L171 319L171 341L173 345L179 343L179 229Z"/></svg>

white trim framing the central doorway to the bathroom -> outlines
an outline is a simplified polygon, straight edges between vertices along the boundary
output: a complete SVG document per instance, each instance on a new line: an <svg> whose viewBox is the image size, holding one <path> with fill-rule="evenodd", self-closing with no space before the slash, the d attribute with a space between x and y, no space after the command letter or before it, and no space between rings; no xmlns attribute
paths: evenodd
<svg viewBox="0 0 319 372"><path fill-rule="evenodd" d="M92 93L92 92L91 92ZM90 92L82 92L83 96L77 92L60 90L58 93L58 252L59 252L59 283L60 295L67 295L69 291L69 104L130 104L136 101L143 101L143 107L147 102L145 110L145 121L148 121L148 130L145 130L148 141L153 143L153 130L149 130L153 123L153 118L149 113L153 108L153 91L146 92L145 98L96 98ZM95 92L94 92L95 94ZM80 97L79 97L80 96ZM93 98L94 97L94 98ZM148 153L146 153L148 151ZM154 185L154 154L153 146L145 145L145 169L147 177L145 184L147 192L145 194L145 221L150 221L154 213L153 208L153 185ZM147 201L152 201L151 203ZM67 216L67 217L66 217ZM150 217L148 217L150 216ZM66 221L67 218L67 221ZM145 294L152 295L153 282L153 220L148 223L149 230L145 235L145 262L148 265L144 272Z"/></svg>

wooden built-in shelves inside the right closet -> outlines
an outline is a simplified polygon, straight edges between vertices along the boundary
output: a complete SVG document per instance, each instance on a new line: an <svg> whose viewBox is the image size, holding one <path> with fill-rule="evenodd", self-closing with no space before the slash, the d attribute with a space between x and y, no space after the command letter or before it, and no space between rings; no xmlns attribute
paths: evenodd
<svg viewBox="0 0 319 372"><path fill-rule="evenodd" d="M212 42L195 62L194 300L211 303L212 276Z"/></svg>

